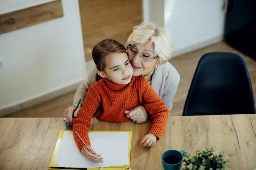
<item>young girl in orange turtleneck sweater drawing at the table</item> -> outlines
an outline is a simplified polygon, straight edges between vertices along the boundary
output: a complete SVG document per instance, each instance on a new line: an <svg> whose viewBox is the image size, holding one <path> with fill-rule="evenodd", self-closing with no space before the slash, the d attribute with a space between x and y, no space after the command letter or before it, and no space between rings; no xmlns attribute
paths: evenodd
<svg viewBox="0 0 256 170"><path fill-rule="evenodd" d="M88 137L93 114L99 108L97 119L110 122L126 122L124 110L143 104L150 114L152 124L142 139L145 147L154 146L166 128L168 108L143 76L132 77L133 69L126 49L115 40L106 39L92 49L97 73L102 79L90 86L78 117L73 120L73 135L79 150L90 161L103 162L100 154L90 147ZM90 153L74 130L78 132Z"/></svg>

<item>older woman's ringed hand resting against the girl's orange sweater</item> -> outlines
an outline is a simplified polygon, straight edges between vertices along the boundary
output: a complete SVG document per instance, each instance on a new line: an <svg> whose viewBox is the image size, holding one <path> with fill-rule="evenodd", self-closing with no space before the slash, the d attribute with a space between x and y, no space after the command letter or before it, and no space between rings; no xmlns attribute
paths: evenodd
<svg viewBox="0 0 256 170"><path fill-rule="evenodd" d="M148 113L144 106L138 105L130 110L124 110L126 117L132 119L137 124L145 123L148 120Z"/></svg>

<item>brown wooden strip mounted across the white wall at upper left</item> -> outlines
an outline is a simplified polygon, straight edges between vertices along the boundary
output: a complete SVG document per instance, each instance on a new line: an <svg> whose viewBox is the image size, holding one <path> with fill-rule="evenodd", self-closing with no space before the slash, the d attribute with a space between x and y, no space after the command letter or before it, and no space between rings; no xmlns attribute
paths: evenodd
<svg viewBox="0 0 256 170"><path fill-rule="evenodd" d="M0 14L0 34L63 16L61 0Z"/></svg>

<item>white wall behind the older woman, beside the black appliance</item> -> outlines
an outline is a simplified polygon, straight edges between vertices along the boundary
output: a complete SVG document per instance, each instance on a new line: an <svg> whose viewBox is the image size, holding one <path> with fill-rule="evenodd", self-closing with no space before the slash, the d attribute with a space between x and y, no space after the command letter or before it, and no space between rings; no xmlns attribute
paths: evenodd
<svg viewBox="0 0 256 170"><path fill-rule="evenodd" d="M176 57L223 40L224 2L225 0L143 0L144 21L156 22L170 31L173 57Z"/></svg>

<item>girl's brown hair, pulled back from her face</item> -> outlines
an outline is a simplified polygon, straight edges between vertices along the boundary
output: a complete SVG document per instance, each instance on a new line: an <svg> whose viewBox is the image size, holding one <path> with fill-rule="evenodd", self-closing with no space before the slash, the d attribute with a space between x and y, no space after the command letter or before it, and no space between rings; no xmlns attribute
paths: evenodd
<svg viewBox="0 0 256 170"><path fill-rule="evenodd" d="M110 53L126 53L125 47L116 40L106 39L96 44L92 49L92 58L97 70L104 71L106 58Z"/></svg>

